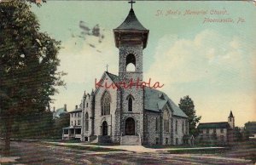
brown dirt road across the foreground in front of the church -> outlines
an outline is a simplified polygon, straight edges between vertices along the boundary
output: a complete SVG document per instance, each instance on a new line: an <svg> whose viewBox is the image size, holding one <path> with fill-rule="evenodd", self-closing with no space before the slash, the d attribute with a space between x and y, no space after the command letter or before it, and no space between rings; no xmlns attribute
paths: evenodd
<svg viewBox="0 0 256 165"><path fill-rule="evenodd" d="M216 155L133 153L129 151L95 152L36 142L12 142L13 155L22 164L253 164L252 162Z"/></svg>

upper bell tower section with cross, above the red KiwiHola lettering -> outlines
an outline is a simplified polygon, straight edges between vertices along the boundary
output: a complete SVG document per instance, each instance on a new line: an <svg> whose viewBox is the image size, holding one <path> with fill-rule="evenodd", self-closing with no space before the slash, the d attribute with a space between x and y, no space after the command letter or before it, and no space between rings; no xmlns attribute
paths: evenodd
<svg viewBox="0 0 256 165"><path fill-rule="evenodd" d="M148 43L148 29L137 20L132 9L125 21L113 29L115 46L119 48L119 77L121 81L143 80L143 49Z"/></svg>

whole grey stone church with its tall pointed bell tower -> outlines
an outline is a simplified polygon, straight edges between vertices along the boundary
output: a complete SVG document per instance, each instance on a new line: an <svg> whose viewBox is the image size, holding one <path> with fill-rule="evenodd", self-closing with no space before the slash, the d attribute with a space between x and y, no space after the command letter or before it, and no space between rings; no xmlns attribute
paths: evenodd
<svg viewBox="0 0 256 165"><path fill-rule="evenodd" d="M105 71L97 88L90 94L84 92L79 107L82 141L119 145L186 142L189 122L184 112L165 93L138 86L143 83L143 49L147 47L148 33L132 7L125 21L113 29L115 46L119 48L119 75ZM128 71L128 65L133 65L134 70ZM130 86L120 85L125 83ZM113 84L119 84L118 88Z"/></svg>

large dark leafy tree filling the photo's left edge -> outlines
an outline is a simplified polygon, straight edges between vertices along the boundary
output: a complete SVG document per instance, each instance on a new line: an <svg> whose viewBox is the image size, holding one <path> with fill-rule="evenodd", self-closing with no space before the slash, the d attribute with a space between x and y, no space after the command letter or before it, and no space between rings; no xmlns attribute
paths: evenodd
<svg viewBox="0 0 256 165"><path fill-rule="evenodd" d="M0 20L0 122L9 155L15 119L45 111L50 96L58 92L55 87L64 85L61 77L65 73L57 71L61 43L39 31L26 1L0 3Z"/></svg>

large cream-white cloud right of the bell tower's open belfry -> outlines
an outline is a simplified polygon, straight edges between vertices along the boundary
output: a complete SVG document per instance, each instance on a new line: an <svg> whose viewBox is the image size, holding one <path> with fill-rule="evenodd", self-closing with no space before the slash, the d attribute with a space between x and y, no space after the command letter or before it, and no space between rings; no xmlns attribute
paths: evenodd
<svg viewBox="0 0 256 165"><path fill-rule="evenodd" d="M163 83L188 83L217 78L218 73L234 73L244 66L241 42L216 31L201 31L194 39L165 36L154 54L154 64L146 73Z"/></svg>

